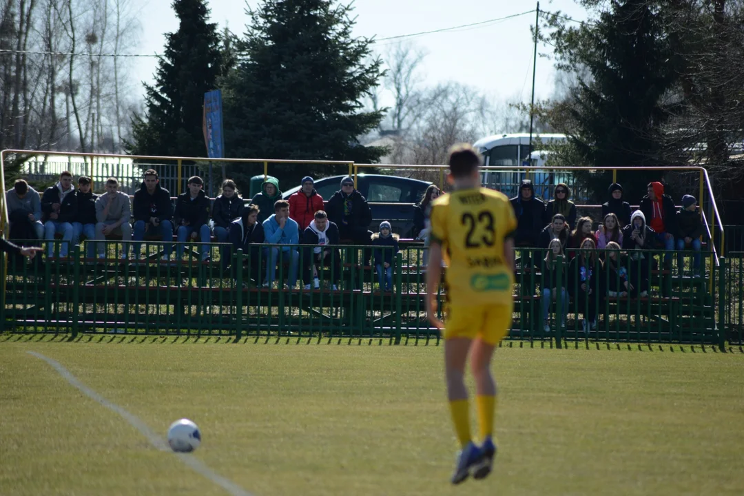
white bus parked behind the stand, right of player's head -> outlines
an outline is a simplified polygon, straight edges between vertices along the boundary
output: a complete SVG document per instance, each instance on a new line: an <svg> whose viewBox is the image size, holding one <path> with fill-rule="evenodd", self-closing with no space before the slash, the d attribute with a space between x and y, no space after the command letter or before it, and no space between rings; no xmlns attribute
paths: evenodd
<svg viewBox="0 0 744 496"><path fill-rule="evenodd" d="M540 145L566 140L565 135L559 134L533 135L533 150L530 153L530 135L526 132L481 138L473 146L483 155L485 165L514 167L509 171L485 171L483 183L508 196L516 196L519 182L525 177L522 163L529 161L530 165L545 167L550 152L541 150ZM530 173L530 179L535 185L535 194L542 198L551 198L552 187L562 180L554 173L547 172Z"/></svg>

